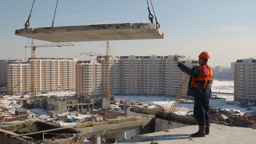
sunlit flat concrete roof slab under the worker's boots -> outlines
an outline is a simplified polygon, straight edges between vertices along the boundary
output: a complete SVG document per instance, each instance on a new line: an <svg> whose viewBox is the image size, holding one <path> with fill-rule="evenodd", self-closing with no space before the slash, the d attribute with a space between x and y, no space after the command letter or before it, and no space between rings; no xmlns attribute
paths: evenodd
<svg viewBox="0 0 256 144"><path fill-rule="evenodd" d="M240 144L255 141L256 129L230 127L212 123L210 134L206 137L191 137L198 131L198 126L187 126L166 130L164 132L148 133L132 137L128 140L117 139L118 144Z"/></svg>

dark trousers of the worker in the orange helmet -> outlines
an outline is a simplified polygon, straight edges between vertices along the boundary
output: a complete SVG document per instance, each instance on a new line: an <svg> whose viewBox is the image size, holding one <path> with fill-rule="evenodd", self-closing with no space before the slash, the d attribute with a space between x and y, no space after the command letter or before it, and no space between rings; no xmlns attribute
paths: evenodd
<svg viewBox="0 0 256 144"><path fill-rule="evenodd" d="M194 98L194 118L198 126L204 126L210 123L209 118L209 98Z"/></svg>

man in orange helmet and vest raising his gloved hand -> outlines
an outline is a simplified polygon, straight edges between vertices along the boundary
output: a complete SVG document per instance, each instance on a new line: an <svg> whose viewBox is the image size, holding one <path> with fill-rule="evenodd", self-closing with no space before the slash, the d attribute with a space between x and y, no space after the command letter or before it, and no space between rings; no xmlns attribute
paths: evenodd
<svg viewBox="0 0 256 144"><path fill-rule="evenodd" d="M180 58L174 57L174 62L178 65L187 75L190 75L188 82L187 95L194 97L194 118L199 126L196 133L191 134L192 137L205 137L210 131L210 118L209 118L209 98L212 95L212 78L213 70L207 65L210 55L208 52L202 52L198 56L199 66L188 68L185 66Z"/></svg>

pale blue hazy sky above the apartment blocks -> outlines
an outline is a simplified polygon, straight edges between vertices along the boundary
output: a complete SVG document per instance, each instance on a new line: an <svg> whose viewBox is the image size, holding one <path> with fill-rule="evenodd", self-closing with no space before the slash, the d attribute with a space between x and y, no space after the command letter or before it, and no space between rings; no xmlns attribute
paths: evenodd
<svg viewBox="0 0 256 144"><path fill-rule="evenodd" d="M28 28L51 27L57 0L35 0ZM210 66L230 66L256 55L256 0L152 0L165 39L110 41L115 56L185 55L207 51ZM15 35L25 28L33 0L0 0L0 59L31 56L31 39ZM150 4L150 0L149 0ZM150 23L146 0L59 0L54 27L112 23ZM153 9L150 5L151 13ZM155 19L154 19L155 23ZM36 57L95 59L81 52L106 53L106 41L42 47ZM52 44L35 39L35 45ZM26 54L25 54L26 53Z"/></svg>

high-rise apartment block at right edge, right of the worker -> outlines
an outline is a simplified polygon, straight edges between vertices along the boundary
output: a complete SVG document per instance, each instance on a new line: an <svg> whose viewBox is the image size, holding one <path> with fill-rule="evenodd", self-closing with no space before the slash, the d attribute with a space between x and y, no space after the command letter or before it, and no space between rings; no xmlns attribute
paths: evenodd
<svg viewBox="0 0 256 144"><path fill-rule="evenodd" d="M234 100L256 99L256 59L239 59L234 64Z"/></svg>

